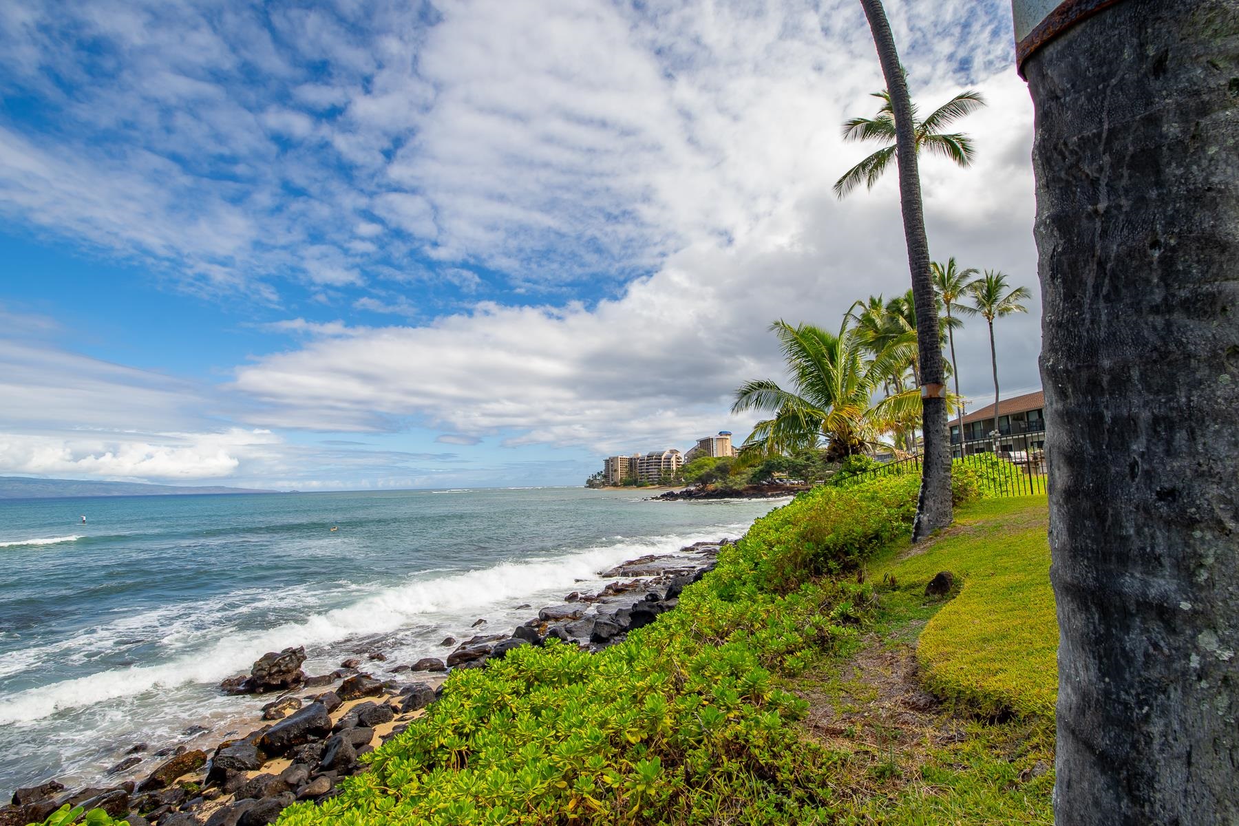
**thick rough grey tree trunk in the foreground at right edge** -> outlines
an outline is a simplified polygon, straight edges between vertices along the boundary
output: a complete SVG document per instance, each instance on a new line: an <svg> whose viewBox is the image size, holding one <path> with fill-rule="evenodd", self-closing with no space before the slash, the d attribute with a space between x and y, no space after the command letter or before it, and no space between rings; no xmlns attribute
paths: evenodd
<svg viewBox="0 0 1239 826"><path fill-rule="evenodd" d="M1020 43L1056 822L1239 824L1239 0L1092 5Z"/></svg>

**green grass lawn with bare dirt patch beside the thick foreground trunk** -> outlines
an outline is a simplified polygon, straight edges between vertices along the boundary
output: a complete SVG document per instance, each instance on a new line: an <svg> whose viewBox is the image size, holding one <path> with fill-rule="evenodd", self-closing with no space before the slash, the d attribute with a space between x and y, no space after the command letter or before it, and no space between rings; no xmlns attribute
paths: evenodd
<svg viewBox="0 0 1239 826"><path fill-rule="evenodd" d="M1058 625L1044 495L958 510L932 541L869 562L870 633L802 681L838 753L841 824L1052 824ZM955 576L948 597L924 587ZM943 702L924 706L928 689Z"/></svg>

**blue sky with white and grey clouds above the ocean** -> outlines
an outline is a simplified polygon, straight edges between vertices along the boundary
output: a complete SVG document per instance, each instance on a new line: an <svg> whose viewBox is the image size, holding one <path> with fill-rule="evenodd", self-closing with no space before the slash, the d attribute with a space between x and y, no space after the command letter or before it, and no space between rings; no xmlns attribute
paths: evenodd
<svg viewBox="0 0 1239 826"><path fill-rule="evenodd" d="M930 253L1032 290L1005 1L887 1ZM769 323L908 286L855 0L0 4L0 474L301 490L580 484L731 430ZM984 323L961 391L992 398Z"/></svg>

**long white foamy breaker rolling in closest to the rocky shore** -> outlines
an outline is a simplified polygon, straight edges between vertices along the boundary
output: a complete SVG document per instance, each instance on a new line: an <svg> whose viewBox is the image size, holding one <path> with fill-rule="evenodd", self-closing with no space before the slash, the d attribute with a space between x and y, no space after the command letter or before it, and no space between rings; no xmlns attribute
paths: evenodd
<svg viewBox="0 0 1239 826"><path fill-rule="evenodd" d="M211 685L248 669L264 651L280 650L287 645L323 646L353 637L390 633L414 624L456 625L465 617L473 617L503 603L529 599L544 592L548 598L553 598L551 594L587 587L582 583L598 582L600 571L637 556L673 552L695 541L719 539L722 533L733 535L743 528L743 524L737 524L688 535L618 542L539 560L502 562L431 580L420 573L394 587L367 589L367 596L347 606L264 630L198 627L191 634L195 644L177 646L183 653L165 663L100 671L5 697L0 700L0 724L28 723L57 711L191 682ZM203 611L209 607L202 606ZM195 613L202 614L201 611ZM147 614L138 622L126 623L128 630L135 630L134 625L150 628L154 619L156 617ZM167 634L169 630L171 629L165 628L164 633Z"/></svg>

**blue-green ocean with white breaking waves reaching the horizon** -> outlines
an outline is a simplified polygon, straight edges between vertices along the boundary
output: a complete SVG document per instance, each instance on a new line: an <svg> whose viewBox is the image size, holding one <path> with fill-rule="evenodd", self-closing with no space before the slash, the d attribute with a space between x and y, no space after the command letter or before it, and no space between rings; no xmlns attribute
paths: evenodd
<svg viewBox="0 0 1239 826"><path fill-rule="evenodd" d="M48 778L98 783L139 742L198 748L252 731L270 696L217 686L265 651L305 645L307 674L369 648L388 656L368 664L375 674L445 656L439 643L472 635L477 619L510 632L570 591L600 588L601 571L740 536L781 504L648 495L0 502L0 795Z"/></svg>

